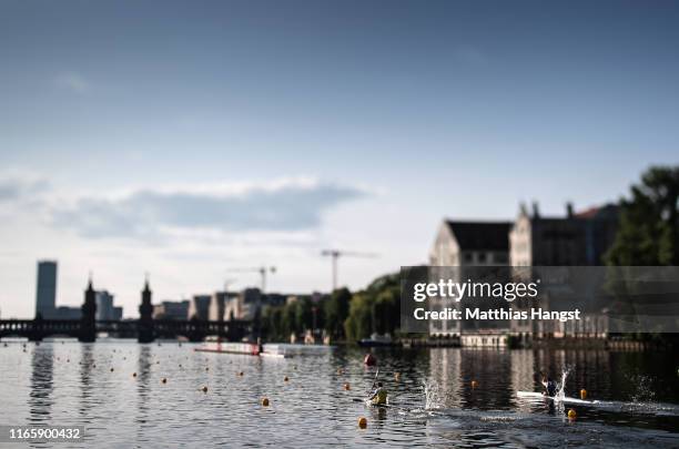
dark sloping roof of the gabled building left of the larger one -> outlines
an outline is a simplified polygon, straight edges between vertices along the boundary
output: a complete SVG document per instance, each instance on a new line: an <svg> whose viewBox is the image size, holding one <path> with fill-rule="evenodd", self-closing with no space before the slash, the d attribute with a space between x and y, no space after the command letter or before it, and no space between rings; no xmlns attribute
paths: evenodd
<svg viewBox="0 0 679 449"><path fill-rule="evenodd" d="M446 220L463 251L509 251L509 222L454 222Z"/></svg>

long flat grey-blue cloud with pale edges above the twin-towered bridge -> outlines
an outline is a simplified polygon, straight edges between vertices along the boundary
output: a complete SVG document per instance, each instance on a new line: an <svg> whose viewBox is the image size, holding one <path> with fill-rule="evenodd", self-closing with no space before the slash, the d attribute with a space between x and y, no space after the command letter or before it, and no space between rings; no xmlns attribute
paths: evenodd
<svg viewBox="0 0 679 449"><path fill-rule="evenodd" d="M364 188L314 178L206 184L84 196L52 206L52 223L88 238L154 242L189 233L298 233L317 228L325 211L366 196Z"/></svg>

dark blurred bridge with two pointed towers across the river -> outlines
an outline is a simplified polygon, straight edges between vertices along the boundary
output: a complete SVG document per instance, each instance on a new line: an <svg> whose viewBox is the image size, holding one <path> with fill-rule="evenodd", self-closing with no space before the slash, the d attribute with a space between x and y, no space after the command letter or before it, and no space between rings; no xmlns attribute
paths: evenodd
<svg viewBox="0 0 679 449"><path fill-rule="evenodd" d="M130 320L97 320L97 303L94 288L90 280L84 293L81 307L81 319L1 319L0 338L26 337L40 341L49 336L68 336L80 341L94 341L98 334L107 334L120 338L136 338L140 343L150 343L156 338L185 337L191 341L202 341L207 336L217 336L226 341L241 340L246 335L256 331L252 322L203 320L203 319L153 319L151 289L146 280L142 290L142 303L139 307L140 318Z"/></svg>

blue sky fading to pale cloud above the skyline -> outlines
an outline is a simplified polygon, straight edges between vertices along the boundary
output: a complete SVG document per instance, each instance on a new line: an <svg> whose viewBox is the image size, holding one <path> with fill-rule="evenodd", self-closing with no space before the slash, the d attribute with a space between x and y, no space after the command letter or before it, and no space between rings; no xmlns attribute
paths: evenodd
<svg viewBox="0 0 679 449"><path fill-rule="evenodd" d="M0 2L0 314L352 289L679 151L677 1Z"/></svg>

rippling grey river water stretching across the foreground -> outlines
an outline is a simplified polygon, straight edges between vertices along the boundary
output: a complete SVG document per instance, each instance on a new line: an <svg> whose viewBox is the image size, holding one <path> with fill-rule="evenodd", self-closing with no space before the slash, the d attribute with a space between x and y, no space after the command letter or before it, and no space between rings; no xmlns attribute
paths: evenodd
<svg viewBox="0 0 679 449"><path fill-rule="evenodd" d="M83 442L6 446L679 447L679 361L667 354L374 350L391 392L384 409L356 401L375 376L358 348L291 348L294 357L284 360L194 348L0 345L0 425L85 426ZM567 396L586 388L598 405L516 397L539 390L536 373L560 375L564 367ZM566 417L569 408L577 419Z"/></svg>

